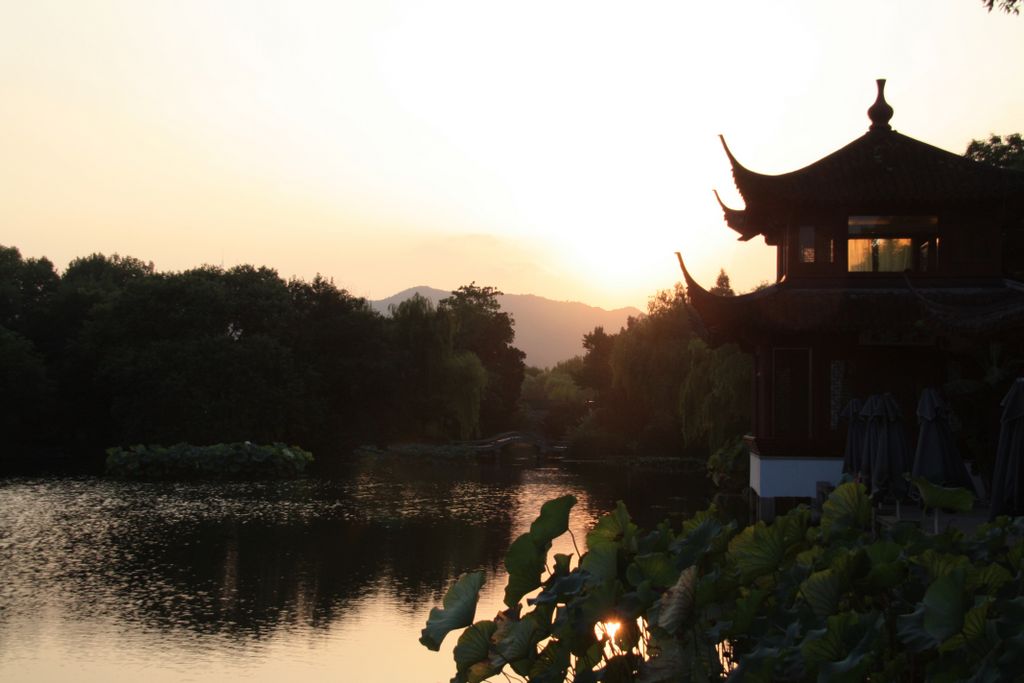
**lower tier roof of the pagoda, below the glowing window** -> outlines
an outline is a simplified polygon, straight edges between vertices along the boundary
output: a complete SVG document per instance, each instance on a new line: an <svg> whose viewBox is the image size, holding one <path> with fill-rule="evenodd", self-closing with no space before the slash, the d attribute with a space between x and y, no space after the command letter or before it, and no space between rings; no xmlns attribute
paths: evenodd
<svg viewBox="0 0 1024 683"><path fill-rule="evenodd" d="M914 286L894 278L851 287L808 287L782 280L738 296L703 289L679 256L690 304L713 341L754 343L772 334L944 335L991 338L1024 334L1024 285L991 279L967 286Z"/></svg>

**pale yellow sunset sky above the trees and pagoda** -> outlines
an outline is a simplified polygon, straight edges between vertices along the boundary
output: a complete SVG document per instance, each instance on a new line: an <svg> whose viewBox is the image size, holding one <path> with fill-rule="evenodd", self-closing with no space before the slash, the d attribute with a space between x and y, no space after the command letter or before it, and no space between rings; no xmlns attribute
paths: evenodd
<svg viewBox="0 0 1024 683"><path fill-rule="evenodd" d="M980 0L0 0L0 244L643 308L675 251L774 279L719 134L795 170L887 78L962 153L1024 130L1022 63Z"/></svg>

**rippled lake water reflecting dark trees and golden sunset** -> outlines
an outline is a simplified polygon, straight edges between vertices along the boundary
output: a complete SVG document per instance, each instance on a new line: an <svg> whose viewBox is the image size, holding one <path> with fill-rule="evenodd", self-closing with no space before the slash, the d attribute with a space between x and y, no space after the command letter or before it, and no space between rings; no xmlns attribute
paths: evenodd
<svg viewBox="0 0 1024 683"><path fill-rule="evenodd" d="M541 505L586 529L616 500L651 524L702 508L700 475L361 461L283 482L0 479L0 681L389 681L454 674L419 644L430 607ZM574 552L568 536L556 551Z"/></svg>

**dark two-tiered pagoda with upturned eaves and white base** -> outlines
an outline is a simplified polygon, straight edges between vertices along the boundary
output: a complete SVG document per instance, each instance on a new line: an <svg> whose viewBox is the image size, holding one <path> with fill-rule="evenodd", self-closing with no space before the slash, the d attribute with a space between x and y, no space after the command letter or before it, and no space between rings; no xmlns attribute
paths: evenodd
<svg viewBox="0 0 1024 683"><path fill-rule="evenodd" d="M722 138L745 204L719 199L725 222L775 247L774 285L718 296L679 258L707 337L754 355L745 442L763 516L840 477L851 398L891 393L909 422L951 353L1024 338L1024 173L893 130L885 80L867 115L864 135L780 175Z"/></svg>

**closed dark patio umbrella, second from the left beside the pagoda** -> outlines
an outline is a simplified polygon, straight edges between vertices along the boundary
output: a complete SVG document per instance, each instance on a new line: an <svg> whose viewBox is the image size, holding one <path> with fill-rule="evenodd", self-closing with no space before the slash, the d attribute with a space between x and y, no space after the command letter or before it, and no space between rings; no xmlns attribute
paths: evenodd
<svg viewBox="0 0 1024 683"><path fill-rule="evenodd" d="M900 501L907 494L904 473L910 470L911 458L899 405L892 394L874 394L864 401L860 415L866 423L861 466L871 495Z"/></svg>

